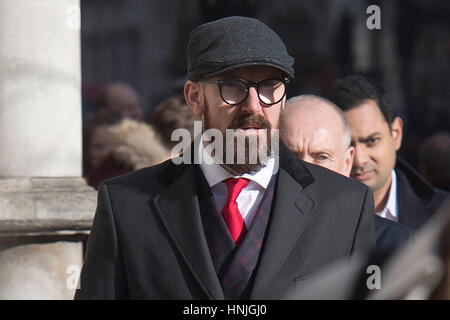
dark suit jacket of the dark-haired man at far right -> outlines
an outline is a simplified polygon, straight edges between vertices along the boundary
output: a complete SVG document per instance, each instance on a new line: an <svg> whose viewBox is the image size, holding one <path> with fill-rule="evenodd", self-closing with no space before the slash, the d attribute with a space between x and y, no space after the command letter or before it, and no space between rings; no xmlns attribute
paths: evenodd
<svg viewBox="0 0 450 320"><path fill-rule="evenodd" d="M449 193L433 188L404 160L397 157L398 222L417 231L431 218Z"/></svg>

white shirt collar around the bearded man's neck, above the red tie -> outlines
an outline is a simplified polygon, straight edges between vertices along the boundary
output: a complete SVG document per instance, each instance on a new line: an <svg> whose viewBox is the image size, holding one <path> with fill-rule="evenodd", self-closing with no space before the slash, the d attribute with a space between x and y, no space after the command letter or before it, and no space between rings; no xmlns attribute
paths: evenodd
<svg viewBox="0 0 450 320"><path fill-rule="evenodd" d="M261 168L261 170L259 170L255 174L251 175L245 173L242 176L234 176L233 174L225 170L224 167L214 161L209 152L205 149L203 141L201 139L199 141L198 152L199 154L197 159L200 159L200 168L202 169L206 181L208 181L208 184L211 188L219 182L228 178L246 178L256 182L262 188L267 189L270 179L274 174L273 171L275 168L275 157L270 157L266 166Z"/></svg>

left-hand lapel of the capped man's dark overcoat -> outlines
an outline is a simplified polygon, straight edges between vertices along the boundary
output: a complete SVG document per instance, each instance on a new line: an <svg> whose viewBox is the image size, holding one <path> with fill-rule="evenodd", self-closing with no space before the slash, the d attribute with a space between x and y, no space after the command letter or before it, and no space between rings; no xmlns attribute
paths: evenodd
<svg viewBox="0 0 450 320"><path fill-rule="evenodd" d="M181 256L210 299L224 299L203 232L195 165L171 164L163 174L172 180L153 205Z"/></svg>

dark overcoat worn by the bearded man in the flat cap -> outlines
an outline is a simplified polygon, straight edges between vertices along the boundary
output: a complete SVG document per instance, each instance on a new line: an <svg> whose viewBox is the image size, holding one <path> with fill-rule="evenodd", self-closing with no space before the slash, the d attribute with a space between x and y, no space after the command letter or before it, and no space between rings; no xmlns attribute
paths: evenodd
<svg viewBox="0 0 450 320"><path fill-rule="evenodd" d="M375 246L365 185L298 160L282 143L279 160L250 299L280 299L326 265ZM169 160L100 185L76 299L224 298L196 170Z"/></svg>

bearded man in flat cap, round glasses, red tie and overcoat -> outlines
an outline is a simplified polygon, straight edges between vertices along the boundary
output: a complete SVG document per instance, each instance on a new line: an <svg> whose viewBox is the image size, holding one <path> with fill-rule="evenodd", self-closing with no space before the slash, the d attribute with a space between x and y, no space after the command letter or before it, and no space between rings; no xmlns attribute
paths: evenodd
<svg viewBox="0 0 450 320"><path fill-rule="evenodd" d="M279 36L220 19L192 31L187 60L185 98L205 134L181 157L99 187L76 298L279 299L373 248L369 189L278 139L294 76Z"/></svg>

